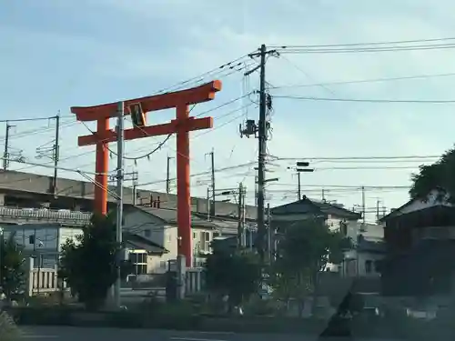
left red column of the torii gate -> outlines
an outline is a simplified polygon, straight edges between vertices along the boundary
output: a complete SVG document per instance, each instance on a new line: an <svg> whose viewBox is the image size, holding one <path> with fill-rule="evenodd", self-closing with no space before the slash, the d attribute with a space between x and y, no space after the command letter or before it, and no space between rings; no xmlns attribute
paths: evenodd
<svg viewBox="0 0 455 341"><path fill-rule="evenodd" d="M100 118L96 121L96 133L102 135L109 129L109 119ZM94 212L106 215L107 213L107 172L109 168L109 153L106 142L96 143L95 181L100 186L95 186Z"/></svg>

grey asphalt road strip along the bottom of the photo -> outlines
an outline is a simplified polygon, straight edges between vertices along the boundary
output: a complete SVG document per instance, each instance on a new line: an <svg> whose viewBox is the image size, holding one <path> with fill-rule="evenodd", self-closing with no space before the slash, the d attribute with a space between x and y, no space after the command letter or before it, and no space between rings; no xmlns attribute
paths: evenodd
<svg viewBox="0 0 455 341"><path fill-rule="evenodd" d="M180 332L152 329L82 328L69 326L26 326L21 327L22 338L39 341L313 341L317 336L278 334L235 334ZM360 340L354 338L355 340ZM373 341L369 339L369 341ZM375 340L385 341L385 340ZM387 340L390 341L390 340Z"/></svg>

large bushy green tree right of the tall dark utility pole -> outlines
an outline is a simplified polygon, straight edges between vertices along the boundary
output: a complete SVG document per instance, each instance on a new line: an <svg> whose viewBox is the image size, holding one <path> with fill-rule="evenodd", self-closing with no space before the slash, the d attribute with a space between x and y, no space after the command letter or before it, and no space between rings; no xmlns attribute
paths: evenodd
<svg viewBox="0 0 455 341"><path fill-rule="evenodd" d="M339 231L330 231L320 218L283 226L281 232L272 284L283 299L298 300L301 314L305 297L317 296L319 272L329 262L339 264L351 243Z"/></svg>

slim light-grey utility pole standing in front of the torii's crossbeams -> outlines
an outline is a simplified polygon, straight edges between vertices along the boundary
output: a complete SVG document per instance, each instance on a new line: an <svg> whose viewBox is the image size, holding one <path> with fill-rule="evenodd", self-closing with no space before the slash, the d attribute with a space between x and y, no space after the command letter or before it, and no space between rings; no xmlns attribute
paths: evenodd
<svg viewBox="0 0 455 341"><path fill-rule="evenodd" d="M116 285L115 285L115 300L116 307L120 308L120 266L123 260L123 246L122 246L122 223L123 223L123 146L124 146L124 103L118 102L117 104L117 125L116 125L116 145L117 145L117 164L116 164L116 242L120 245L120 252L116 255Z"/></svg>

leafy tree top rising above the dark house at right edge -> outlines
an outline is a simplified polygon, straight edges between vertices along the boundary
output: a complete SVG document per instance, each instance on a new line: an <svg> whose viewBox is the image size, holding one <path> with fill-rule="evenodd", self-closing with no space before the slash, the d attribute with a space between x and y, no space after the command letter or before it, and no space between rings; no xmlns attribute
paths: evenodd
<svg viewBox="0 0 455 341"><path fill-rule="evenodd" d="M420 165L419 173L411 176L411 199L426 200L432 191L438 191L438 200L455 204L455 147L441 155L432 165Z"/></svg>

